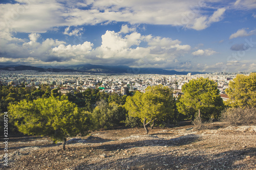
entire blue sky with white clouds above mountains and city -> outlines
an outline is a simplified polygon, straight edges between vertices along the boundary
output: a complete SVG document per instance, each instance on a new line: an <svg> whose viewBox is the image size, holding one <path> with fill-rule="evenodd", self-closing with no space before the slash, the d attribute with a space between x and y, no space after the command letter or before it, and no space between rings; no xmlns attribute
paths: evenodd
<svg viewBox="0 0 256 170"><path fill-rule="evenodd" d="M0 65L256 71L256 0L2 0L0 15Z"/></svg>

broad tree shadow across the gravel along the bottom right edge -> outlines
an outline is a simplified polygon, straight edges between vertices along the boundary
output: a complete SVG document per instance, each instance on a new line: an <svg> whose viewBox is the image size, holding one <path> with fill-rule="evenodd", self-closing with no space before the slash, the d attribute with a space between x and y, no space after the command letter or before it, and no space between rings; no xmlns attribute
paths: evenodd
<svg viewBox="0 0 256 170"><path fill-rule="evenodd" d="M256 148L247 148L242 150L226 151L218 154L205 155L198 152L193 155L179 156L172 154L141 154L129 156L122 159L109 161L108 163L81 163L74 169L254 169L255 165L239 163L246 159L245 156L255 156ZM100 161L100 160L99 160ZM115 167L113 167L113 165Z"/></svg>

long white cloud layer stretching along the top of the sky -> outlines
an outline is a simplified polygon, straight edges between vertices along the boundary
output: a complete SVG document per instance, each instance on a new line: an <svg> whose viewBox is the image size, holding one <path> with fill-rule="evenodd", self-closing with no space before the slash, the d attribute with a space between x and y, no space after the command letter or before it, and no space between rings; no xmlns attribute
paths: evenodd
<svg viewBox="0 0 256 170"><path fill-rule="evenodd" d="M219 0L218 0L219 1ZM16 4L0 4L1 29L8 28L14 32L45 33L61 26L96 25L97 23L129 22L153 25L173 25L202 30L212 22L219 21L225 11L220 8L211 16L203 15L204 8L211 8L211 1L17 1ZM90 6L90 7L89 7ZM199 8L191 9L191 7ZM89 7L84 10L80 7ZM81 30L67 35L79 35ZM134 27L123 25L120 33L136 31Z"/></svg>

